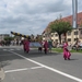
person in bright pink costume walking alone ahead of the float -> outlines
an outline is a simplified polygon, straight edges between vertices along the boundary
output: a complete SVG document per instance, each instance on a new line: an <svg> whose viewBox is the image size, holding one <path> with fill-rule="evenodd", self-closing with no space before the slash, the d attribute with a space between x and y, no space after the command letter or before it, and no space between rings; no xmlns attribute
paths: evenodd
<svg viewBox="0 0 82 82"><path fill-rule="evenodd" d="M70 56L71 56L71 52L68 49L68 43L65 42L63 43L63 58L65 58L65 60L67 60L67 59L70 60Z"/></svg>

